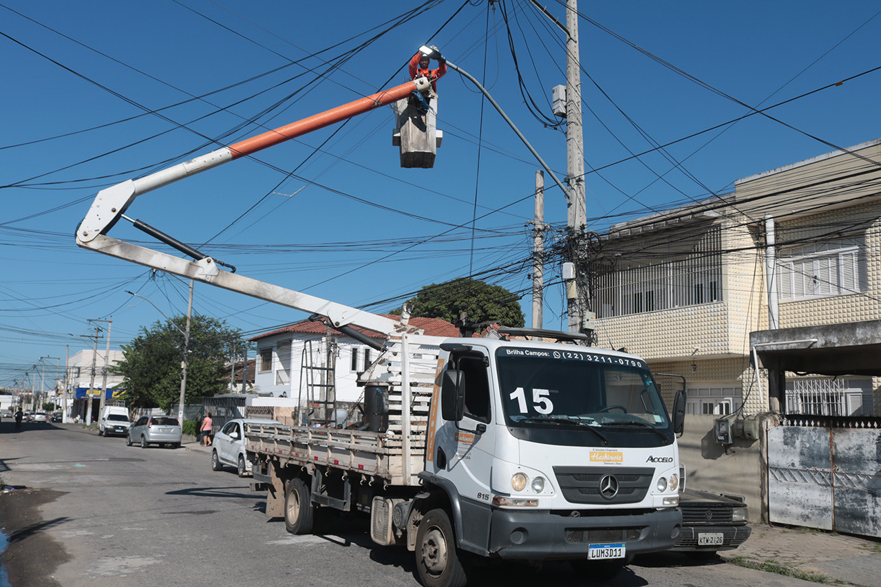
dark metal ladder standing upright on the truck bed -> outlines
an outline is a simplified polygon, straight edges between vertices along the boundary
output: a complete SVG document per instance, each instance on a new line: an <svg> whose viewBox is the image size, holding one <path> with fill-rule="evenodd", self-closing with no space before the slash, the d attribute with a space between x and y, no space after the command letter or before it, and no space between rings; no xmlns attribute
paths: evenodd
<svg viewBox="0 0 881 587"><path fill-rule="evenodd" d="M323 340L325 344L317 352L312 340L303 344L297 423L304 426L328 427L337 410L337 339L327 336ZM315 364L319 358L323 360Z"/></svg>

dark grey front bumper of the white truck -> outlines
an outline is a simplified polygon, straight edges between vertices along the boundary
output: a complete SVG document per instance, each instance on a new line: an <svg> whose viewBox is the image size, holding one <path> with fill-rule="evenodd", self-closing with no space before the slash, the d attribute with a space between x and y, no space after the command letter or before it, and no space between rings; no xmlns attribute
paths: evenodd
<svg viewBox="0 0 881 587"><path fill-rule="evenodd" d="M494 509L489 552L512 560L586 559L591 544L623 542L629 557L670 549L681 526L678 509L579 517Z"/></svg>

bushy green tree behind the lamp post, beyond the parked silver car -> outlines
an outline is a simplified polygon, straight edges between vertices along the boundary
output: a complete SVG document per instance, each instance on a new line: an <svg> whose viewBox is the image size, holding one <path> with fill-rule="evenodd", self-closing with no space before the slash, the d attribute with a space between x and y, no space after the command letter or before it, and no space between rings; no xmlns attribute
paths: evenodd
<svg viewBox="0 0 881 587"><path fill-rule="evenodd" d="M169 410L181 398L181 358L187 317L175 316L141 328L130 345L122 346L122 361L114 368L122 375L125 398L135 407ZM226 391L226 360L233 348L248 342L241 331L208 316L193 316L189 325L189 365L185 402Z"/></svg>

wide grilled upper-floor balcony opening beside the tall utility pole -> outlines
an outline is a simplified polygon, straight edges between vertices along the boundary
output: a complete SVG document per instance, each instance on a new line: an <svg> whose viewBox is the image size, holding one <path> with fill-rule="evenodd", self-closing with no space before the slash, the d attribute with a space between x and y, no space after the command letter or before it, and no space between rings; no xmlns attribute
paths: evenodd
<svg viewBox="0 0 881 587"><path fill-rule="evenodd" d="M596 264L598 317L627 316L722 301L721 227L671 237Z"/></svg>

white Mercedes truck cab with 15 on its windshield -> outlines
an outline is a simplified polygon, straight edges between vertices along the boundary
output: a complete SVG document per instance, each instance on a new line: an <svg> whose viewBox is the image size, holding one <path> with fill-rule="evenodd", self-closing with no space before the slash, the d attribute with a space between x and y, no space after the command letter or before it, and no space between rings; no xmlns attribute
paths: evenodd
<svg viewBox="0 0 881 587"><path fill-rule="evenodd" d="M623 566L674 545L681 421L644 360L487 338L441 351L419 477L448 495L463 550Z"/></svg>

